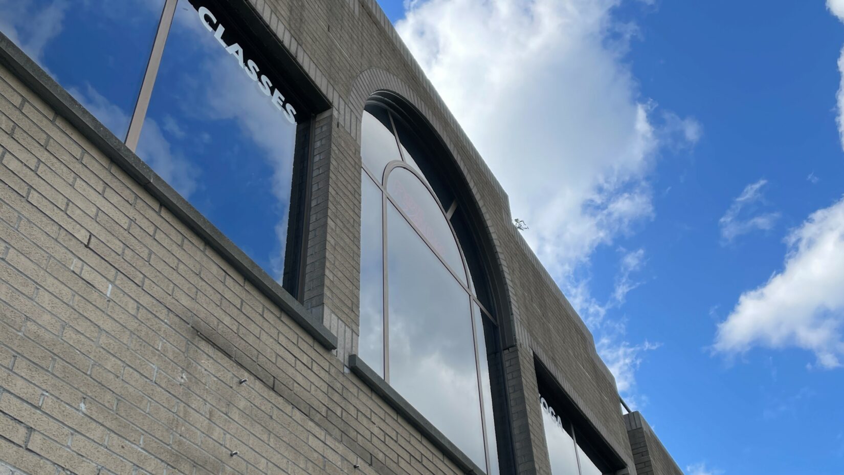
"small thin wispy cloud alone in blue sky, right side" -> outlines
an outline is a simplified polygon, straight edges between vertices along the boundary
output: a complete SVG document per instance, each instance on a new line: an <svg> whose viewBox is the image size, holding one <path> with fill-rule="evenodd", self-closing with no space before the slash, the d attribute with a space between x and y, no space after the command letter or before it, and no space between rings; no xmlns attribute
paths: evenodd
<svg viewBox="0 0 844 475"><path fill-rule="evenodd" d="M758 212L760 206L765 203L762 187L767 183L768 181L763 178L744 187L744 191L733 200L733 204L718 220L718 226L721 227L722 245L733 243L735 238L743 234L756 230L770 231L774 227L776 220L780 217L779 213Z"/></svg>

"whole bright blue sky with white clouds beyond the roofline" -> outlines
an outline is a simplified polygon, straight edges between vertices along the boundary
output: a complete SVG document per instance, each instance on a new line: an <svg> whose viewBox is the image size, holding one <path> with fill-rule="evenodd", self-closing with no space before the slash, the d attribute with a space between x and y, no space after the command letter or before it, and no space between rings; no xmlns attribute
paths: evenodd
<svg viewBox="0 0 844 475"><path fill-rule="evenodd" d="M844 7L380 2L678 464L844 473Z"/></svg>

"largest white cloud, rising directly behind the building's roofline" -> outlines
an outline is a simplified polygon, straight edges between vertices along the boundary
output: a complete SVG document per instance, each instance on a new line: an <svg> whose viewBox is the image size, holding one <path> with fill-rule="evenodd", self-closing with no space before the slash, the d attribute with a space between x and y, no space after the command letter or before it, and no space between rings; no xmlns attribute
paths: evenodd
<svg viewBox="0 0 844 475"><path fill-rule="evenodd" d="M506 189L512 216L529 224L522 236L602 335L619 387L630 388L637 348L648 344L602 330L613 325L607 309L635 287L630 274L598 303L576 272L652 219L659 151L694 145L702 128L640 96L625 64L638 29L614 20L620 3L415 0L396 28Z"/></svg>

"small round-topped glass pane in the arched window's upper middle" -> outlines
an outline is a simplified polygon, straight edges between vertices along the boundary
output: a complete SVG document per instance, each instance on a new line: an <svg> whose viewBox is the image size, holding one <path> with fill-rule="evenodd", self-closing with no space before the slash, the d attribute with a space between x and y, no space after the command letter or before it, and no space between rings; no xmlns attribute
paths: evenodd
<svg viewBox="0 0 844 475"><path fill-rule="evenodd" d="M419 178L407 168L394 168L387 181L387 192L396 200L398 206L408 215L414 226L428 239L436 252L445 259L463 283L466 272L463 259L457 250L452 228L448 226L446 216L434 195L419 181Z"/></svg>

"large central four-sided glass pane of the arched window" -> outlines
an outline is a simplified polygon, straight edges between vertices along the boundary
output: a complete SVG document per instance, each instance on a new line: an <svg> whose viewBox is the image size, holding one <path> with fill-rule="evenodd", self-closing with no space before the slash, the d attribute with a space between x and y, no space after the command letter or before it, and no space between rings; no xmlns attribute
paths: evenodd
<svg viewBox="0 0 844 475"><path fill-rule="evenodd" d="M485 467L468 293L387 205L390 384Z"/></svg>

